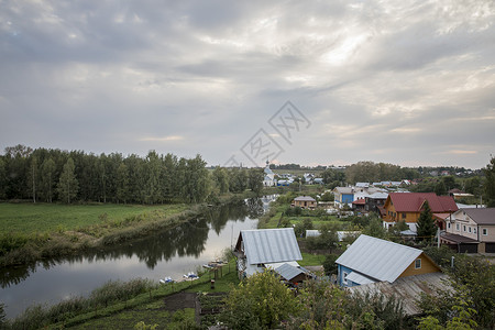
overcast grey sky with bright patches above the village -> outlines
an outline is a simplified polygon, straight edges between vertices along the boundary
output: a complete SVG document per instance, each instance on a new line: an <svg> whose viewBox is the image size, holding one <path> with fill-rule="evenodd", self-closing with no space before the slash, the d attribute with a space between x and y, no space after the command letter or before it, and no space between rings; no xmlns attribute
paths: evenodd
<svg viewBox="0 0 495 330"><path fill-rule="evenodd" d="M495 1L0 0L0 150L482 168Z"/></svg>

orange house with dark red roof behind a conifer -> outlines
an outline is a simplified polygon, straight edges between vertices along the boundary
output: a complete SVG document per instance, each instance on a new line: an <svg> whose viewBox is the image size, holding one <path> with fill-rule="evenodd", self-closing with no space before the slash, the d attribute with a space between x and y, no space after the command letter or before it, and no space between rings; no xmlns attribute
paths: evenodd
<svg viewBox="0 0 495 330"><path fill-rule="evenodd" d="M391 228L399 221L405 221L409 229L416 232L416 223L428 201L433 218L438 220L440 229L444 228L447 216L458 210L455 201L450 196L437 196L435 193L391 193L384 205L383 223Z"/></svg>

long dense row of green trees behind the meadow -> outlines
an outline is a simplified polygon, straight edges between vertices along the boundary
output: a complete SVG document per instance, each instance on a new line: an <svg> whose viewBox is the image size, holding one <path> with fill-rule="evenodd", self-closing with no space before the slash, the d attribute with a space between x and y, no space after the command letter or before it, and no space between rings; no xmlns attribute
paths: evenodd
<svg viewBox="0 0 495 330"><path fill-rule="evenodd" d="M226 193L263 187L261 168L209 170L200 155L145 157L57 148L6 147L0 155L0 199L169 204L202 202Z"/></svg>

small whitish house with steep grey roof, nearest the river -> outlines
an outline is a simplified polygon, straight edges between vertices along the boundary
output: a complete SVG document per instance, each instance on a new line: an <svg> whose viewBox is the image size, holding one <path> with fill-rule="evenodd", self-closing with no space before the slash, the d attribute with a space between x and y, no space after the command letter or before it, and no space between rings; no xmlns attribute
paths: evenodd
<svg viewBox="0 0 495 330"><path fill-rule="evenodd" d="M276 271L284 264L301 270L297 261L302 260L302 256L293 228L241 230L234 254L238 257L240 278L267 268ZM296 273L294 268L288 267L282 271L286 274Z"/></svg>

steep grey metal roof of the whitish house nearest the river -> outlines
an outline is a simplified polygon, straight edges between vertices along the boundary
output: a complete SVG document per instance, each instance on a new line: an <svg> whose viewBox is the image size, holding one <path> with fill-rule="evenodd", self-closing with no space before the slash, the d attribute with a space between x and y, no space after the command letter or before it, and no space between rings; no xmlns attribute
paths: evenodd
<svg viewBox="0 0 495 330"><path fill-rule="evenodd" d="M241 230L249 264L302 260L294 228Z"/></svg>

